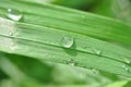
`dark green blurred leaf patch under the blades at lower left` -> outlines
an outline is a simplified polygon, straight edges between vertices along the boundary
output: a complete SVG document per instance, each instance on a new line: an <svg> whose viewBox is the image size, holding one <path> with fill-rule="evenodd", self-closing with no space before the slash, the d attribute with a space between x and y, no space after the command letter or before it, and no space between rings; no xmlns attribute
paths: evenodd
<svg viewBox="0 0 131 87"><path fill-rule="evenodd" d="M52 66L27 57L14 54L7 54L5 57L9 58L9 60L11 60L12 63L14 63L27 76L46 84L51 82Z"/></svg>

